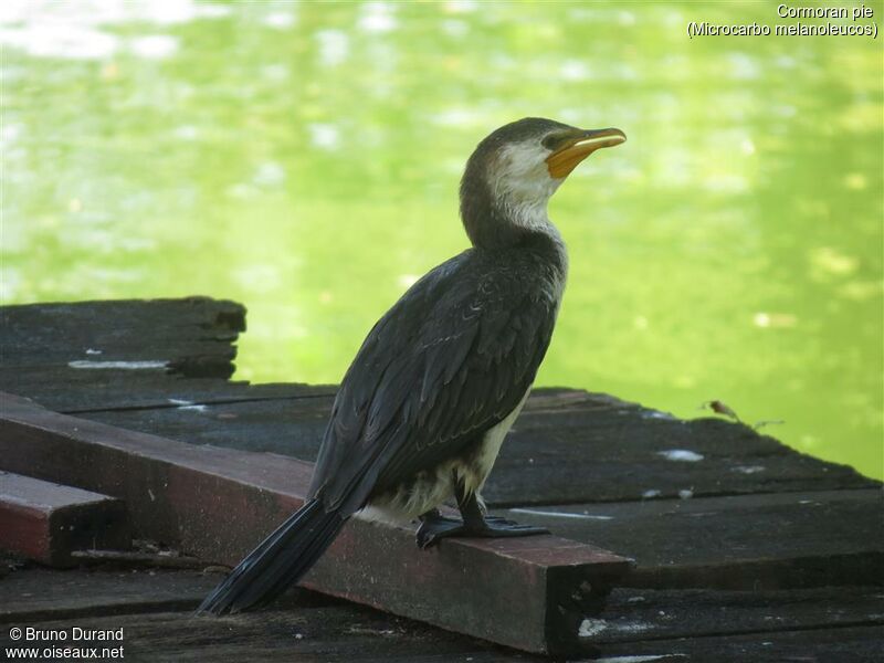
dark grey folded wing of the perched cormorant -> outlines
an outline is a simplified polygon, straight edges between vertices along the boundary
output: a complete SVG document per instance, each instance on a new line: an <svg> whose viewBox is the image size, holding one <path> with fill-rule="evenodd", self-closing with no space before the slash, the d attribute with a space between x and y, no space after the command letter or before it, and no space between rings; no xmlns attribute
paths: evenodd
<svg viewBox="0 0 884 663"><path fill-rule="evenodd" d="M556 302L515 276L464 278L461 254L419 281L369 333L340 386L311 495L352 513L502 421L544 358ZM452 274L456 273L456 277Z"/></svg>

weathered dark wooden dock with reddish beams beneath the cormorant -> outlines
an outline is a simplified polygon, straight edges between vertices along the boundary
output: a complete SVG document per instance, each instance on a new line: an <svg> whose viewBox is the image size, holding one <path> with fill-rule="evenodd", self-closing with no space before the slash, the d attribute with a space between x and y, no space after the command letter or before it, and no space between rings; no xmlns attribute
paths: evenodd
<svg viewBox="0 0 884 663"><path fill-rule="evenodd" d="M110 560L63 549L77 537L44 545L44 562L83 565L0 579L2 648L13 627L76 625L123 628L135 661L846 662L884 650L878 482L738 423L569 389L532 396L485 492L555 536L421 552L411 532L354 523L305 581L338 598L298 589L271 611L191 619L220 578L193 569L235 562L299 503L334 386L229 381L245 327L231 302L0 315L0 471L18 475L0 474L0 548L14 491L83 513L122 503L125 537L106 540L123 547L130 527L152 541ZM49 535L38 503L9 517ZM463 568L480 581L460 581Z"/></svg>

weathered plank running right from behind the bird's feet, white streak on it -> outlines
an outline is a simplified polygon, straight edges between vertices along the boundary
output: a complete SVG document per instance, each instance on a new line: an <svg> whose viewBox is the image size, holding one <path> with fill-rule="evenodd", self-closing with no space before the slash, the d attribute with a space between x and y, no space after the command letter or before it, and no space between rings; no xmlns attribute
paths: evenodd
<svg viewBox="0 0 884 663"><path fill-rule="evenodd" d="M641 587L776 589L884 581L880 490L514 508L634 558Z"/></svg>

